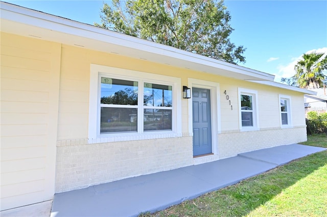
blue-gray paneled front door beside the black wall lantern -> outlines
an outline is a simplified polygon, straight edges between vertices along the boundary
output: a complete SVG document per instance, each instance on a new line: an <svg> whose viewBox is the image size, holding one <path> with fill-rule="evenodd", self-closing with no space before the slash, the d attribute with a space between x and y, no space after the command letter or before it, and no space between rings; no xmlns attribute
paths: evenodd
<svg viewBox="0 0 327 217"><path fill-rule="evenodd" d="M212 153L210 90L192 88L193 156Z"/></svg>

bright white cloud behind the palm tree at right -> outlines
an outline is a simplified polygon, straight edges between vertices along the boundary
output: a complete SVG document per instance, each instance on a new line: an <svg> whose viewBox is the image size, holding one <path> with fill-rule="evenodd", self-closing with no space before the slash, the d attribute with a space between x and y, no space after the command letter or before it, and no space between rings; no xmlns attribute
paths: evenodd
<svg viewBox="0 0 327 217"><path fill-rule="evenodd" d="M307 51L306 54L310 54L312 52L325 53L325 55L327 55L327 47L310 50L310 51ZM303 55L296 57L296 58L294 58L294 57L291 58L290 62L287 65L278 65L277 66L278 73L275 75L276 79L277 78L290 78L290 77L294 76L294 74L295 74L294 66L299 60L303 59L302 56Z"/></svg>

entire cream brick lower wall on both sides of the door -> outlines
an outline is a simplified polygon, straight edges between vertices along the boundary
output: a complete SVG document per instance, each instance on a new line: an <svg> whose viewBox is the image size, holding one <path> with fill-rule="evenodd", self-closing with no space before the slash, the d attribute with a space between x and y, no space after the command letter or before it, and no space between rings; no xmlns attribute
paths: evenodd
<svg viewBox="0 0 327 217"><path fill-rule="evenodd" d="M89 144L87 139L58 141L56 192L306 140L306 126L249 132L223 131L218 134L218 154L202 158L193 158L191 136L95 144Z"/></svg>

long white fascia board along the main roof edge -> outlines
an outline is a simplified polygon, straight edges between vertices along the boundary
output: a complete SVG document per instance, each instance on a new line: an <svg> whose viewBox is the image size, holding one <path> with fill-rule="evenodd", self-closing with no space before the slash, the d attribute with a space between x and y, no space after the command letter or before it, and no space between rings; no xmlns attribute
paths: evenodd
<svg viewBox="0 0 327 217"><path fill-rule="evenodd" d="M102 41L109 44L124 46L129 49L135 49L158 56L164 56L170 59L178 59L180 61L192 63L191 65L198 64L217 69L223 69L233 73L252 77L253 80L274 80L274 75L263 73L261 71L4 2L1 2L1 18L24 23L26 25L42 28L45 30L69 34L71 36L78 36L91 40ZM219 73L215 70L211 70L208 73L224 76L222 73Z"/></svg>

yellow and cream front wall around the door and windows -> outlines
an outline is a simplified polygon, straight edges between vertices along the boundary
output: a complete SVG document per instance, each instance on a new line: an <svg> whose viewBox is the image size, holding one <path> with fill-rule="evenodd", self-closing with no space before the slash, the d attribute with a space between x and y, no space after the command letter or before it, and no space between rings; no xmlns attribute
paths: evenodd
<svg viewBox="0 0 327 217"><path fill-rule="evenodd" d="M204 85L213 81L220 84L218 107L221 114L217 121L219 130L213 134L218 142L215 155L193 158L192 132L189 130L192 110L189 101L184 99L181 102L181 136L143 139L131 137L114 142L104 139L103 142L90 143L87 135L91 64L178 77L181 85L186 86L189 85L189 79L202 80ZM303 105L303 94L294 91L68 45L62 46L60 78L56 192L171 170L307 139L304 108L298 109ZM238 88L258 91L258 131L240 130ZM233 110L225 98L225 90L234 106ZM290 129L281 129L278 94L290 95L292 98L293 123Z"/></svg>

